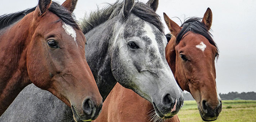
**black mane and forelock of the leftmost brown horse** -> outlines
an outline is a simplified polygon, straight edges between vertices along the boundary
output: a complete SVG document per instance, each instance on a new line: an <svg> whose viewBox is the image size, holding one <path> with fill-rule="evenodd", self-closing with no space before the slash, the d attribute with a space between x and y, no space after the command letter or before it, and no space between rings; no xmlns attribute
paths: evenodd
<svg viewBox="0 0 256 122"><path fill-rule="evenodd" d="M35 11L35 8L26 9L24 11L15 12L11 14L5 14L0 16L0 29L8 27L9 25L16 23L28 13ZM73 27L79 28L77 24L77 20L75 20L75 16L69 12L65 7L62 5L52 1L49 11L53 12L57 15L64 23L71 25Z"/></svg>

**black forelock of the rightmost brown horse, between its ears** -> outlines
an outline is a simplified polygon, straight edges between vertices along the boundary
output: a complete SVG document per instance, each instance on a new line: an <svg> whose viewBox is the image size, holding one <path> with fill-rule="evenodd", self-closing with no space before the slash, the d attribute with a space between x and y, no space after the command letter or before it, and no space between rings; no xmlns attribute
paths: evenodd
<svg viewBox="0 0 256 122"><path fill-rule="evenodd" d="M184 38L185 36L187 36L187 34L186 34L187 32L193 32L193 33L200 34L200 35L204 36L205 38L207 38L207 40L210 42L210 44L215 46L217 48L217 51L219 52L216 43L213 41L212 34L208 31L205 24L203 24L201 22L201 20L202 20L202 18L198 18L198 17L191 17L191 18L187 19L181 25L181 27L183 27L183 28L181 29L181 32L179 32L179 34L176 38L175 45L179 44L181 39ZM218 53L217 53L217 58L218 58Z"/></svg>

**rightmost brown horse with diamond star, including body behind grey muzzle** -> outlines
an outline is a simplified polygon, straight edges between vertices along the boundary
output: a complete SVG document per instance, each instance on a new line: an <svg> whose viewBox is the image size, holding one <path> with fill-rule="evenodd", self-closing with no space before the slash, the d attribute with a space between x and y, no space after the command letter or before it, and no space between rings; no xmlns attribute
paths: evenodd
<svg viewBox="0 0 256 122"><path fill-rule="evenodd" d="M210 33L212 11L207 9L202 22L191 18L179 27L164 13L164 20L173 37L166 46L166 60L182 90L189 91L198 104L204 121L214 121L221 112L221 99L216 89L215 58L218 48ZM138 109L140 108L140 109ZM101 115L94 122L157 122L146 99L117 84L106 98ZM164 122L179 122L178 116Z"/></svg>

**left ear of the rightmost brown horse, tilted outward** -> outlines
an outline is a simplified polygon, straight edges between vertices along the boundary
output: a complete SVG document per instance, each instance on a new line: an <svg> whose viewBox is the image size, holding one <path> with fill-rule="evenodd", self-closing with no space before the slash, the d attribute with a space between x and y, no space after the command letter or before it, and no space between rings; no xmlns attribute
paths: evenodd
<svg viewBox="0 0 256 122"><path fill-rule="evenodd" d="M174 21L172 21L166 15L166 13L163 13L163 15L164 15L164 21L165 21L167 27L169 28L169 30L171 31L171 34L173 34L173 36L177 37L179 32L181 31L181 27L179 27L178 24L176 24Z"/></svg>

